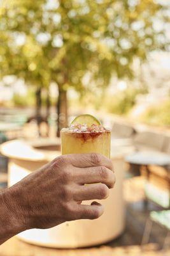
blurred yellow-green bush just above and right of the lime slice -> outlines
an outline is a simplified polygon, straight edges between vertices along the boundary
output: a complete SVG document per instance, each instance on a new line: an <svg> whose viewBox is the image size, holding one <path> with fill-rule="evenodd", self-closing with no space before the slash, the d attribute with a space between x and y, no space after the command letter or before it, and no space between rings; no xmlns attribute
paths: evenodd
<svg viewBox="0 0 170 256"><path fill-rule="evenodd" d="M105 97L104 106L110 113L126 115L136 104L137 95L144 93L147 93L146 88L127 88L124 91Z"/></svg>

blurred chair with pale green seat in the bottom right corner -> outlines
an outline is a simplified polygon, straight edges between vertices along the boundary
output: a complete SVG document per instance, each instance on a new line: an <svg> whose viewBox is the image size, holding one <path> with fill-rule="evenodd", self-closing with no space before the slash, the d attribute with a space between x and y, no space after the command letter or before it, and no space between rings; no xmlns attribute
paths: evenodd
<svg viewBox="0 0 170 256"><path fill-rule="evenodd" d="M148 220L146 220L141 246L148 243L152 232L153 222L167 229L167 234L162 245L162 249L165 249L167 246L170 246L170 210L150 212L150 216Z"/></svg>

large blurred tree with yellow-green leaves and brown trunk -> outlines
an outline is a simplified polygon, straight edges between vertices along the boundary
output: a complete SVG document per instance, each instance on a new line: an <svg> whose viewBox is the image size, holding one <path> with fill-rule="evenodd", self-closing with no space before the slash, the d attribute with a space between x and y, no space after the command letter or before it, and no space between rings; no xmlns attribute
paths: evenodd
<svg viewBox="0 0 170 256"><path fill-rule="evenodd" d="M67 88L83 93L111 76L132 77L134 58L162 49L153 0L6 0L0 8L1 77L58 86L58 136L67 125Z"/></svg>

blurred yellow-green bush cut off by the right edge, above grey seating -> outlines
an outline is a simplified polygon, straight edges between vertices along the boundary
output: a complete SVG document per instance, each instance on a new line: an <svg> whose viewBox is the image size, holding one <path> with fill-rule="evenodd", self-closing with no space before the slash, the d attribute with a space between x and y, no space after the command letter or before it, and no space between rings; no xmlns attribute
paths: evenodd
<svg viewBox="0 0 170 256"><path fill-rule="evenodd" d="M162 102L162 104L155 104L146 110L146 113L141 116L141 120L152 125L170 125L170 99Z"/></svg>

